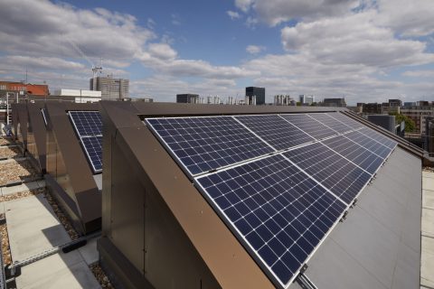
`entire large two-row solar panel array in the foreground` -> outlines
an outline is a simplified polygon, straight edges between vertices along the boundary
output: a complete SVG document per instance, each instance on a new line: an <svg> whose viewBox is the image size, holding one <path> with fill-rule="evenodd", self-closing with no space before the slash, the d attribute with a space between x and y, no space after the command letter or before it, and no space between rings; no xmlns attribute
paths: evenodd
<svg viewBox="0 0 434 289"><path fill-rule="evenodd" d="M280 288L396 146L340 113L158 117L146 125Z"/></svg>

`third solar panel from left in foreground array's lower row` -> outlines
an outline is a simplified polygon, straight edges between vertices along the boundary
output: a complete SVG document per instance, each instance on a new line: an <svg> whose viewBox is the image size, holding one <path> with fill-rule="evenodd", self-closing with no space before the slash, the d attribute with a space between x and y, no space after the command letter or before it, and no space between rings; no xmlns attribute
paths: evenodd
<svg viewBox="0 0 434 289"><path fill-rule="evenodd" d="M382 158L371 153L363 146L355 144L344 136L336 136L326 139L321 143L325 144L336 153L343 155L348 160L357 164L365 171L373 174L382 165Z"/></svg>

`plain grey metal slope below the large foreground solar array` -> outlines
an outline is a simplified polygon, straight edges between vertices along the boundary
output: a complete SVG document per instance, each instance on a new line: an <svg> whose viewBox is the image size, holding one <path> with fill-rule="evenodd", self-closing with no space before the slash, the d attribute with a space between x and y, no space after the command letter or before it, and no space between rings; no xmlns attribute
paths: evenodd
<svg viewBox="0 0 434 289"><path fill-rule="evenodd" d="M306 275L321 289L419 288L420 208L420 158L397 148Z"/></svg>

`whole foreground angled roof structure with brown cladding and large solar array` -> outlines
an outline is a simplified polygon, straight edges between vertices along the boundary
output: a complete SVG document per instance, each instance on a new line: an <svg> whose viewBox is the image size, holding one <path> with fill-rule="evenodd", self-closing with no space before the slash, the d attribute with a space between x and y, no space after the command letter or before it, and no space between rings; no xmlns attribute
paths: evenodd
<svg viewBox="0 0 434 289"><path fill-rule="evenodd" d="M131 288L419 285L421 152L346 114L101 102L102 265Z"/></svg>

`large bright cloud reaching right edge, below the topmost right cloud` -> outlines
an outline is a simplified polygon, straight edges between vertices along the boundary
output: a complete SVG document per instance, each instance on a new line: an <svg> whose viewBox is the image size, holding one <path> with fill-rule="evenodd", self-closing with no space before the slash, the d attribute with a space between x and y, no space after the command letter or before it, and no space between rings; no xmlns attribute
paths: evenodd
<svg viewBox="0 0 434 289"><path fill-rule="evenodd" d="M434 61L434 54L424 52L426 43L396 39L392 29L373 23L375 16L371 11L297 23L282 29L282 42L288 51L303 51L327 63L389 68Z"/></svg>

